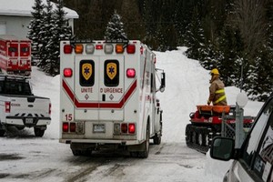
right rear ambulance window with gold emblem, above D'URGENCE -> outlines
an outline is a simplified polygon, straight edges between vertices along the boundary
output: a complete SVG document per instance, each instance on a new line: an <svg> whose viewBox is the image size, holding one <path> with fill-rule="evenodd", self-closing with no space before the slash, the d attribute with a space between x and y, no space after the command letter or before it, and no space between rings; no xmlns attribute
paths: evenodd
<svg viewBox="0 0 273 182"><path fill-rule="evenodd" d="M117 60L105 61L105 86L118 86L119 63Z"/></svg>

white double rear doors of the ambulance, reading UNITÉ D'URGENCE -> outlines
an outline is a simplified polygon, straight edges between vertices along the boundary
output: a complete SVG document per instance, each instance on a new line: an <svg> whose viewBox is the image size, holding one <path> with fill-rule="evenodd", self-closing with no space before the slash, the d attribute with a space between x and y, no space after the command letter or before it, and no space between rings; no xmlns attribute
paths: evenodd
<svg viewBox="0 0 273 182"><path fill-rule="evenodd" d="M76 56L75 119L124 119L124 56Z"/></svg>

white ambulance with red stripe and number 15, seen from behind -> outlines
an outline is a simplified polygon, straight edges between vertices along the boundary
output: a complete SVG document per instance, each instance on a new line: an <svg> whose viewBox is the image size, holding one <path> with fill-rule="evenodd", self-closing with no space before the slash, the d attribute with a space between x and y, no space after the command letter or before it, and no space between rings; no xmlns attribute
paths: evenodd
<svg viewBox="0 0 273 182"><path fill-rule="evenodd" d="M160 73L157 73L160 72ZM100 148L148 157L159 145L165 89L156 55L137 40L61 41L60 139L75 156ZM158 86L157 86L158 85Z"/></svg>

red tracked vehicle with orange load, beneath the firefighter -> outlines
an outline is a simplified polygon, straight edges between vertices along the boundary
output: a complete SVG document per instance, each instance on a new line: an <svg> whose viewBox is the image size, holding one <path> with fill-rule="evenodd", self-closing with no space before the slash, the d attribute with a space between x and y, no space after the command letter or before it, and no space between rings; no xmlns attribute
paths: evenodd
<svg viewBox="0 0 273 182"><path fill-rule="evenodd" d="M234 138L236 106L197 106L197 111L189 114L190 124L186 126L187 147L206 153L215 136ZM244 130L252 126L252 116L244 116Z"/></svg>

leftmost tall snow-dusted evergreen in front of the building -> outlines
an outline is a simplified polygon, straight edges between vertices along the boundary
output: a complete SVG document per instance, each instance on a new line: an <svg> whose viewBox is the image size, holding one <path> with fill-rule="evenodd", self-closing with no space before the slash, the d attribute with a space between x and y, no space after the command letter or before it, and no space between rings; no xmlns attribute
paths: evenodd
<svg viewBox="0 0 273 182"><path fill-rule="evenodd" d="M32 6L33 19L30 21L30 24L27 26L29 31L27 37L32 40L31 50L33 58L40 59L39 49L42 46L41 28L43 27L43 9L42 0L35 0L35 5Z"/></svg>

